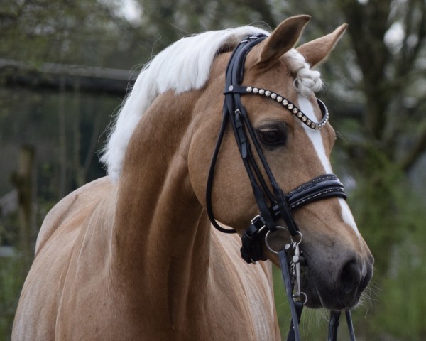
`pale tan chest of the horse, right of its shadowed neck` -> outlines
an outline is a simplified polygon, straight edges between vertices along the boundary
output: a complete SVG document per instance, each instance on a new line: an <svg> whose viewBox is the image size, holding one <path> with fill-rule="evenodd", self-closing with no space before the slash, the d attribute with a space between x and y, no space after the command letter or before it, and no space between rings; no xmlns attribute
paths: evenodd
<svg viewBox="0 0 426 341"><path fill-rule="evenodd" d="M214 276L222 283L222 288L217 289L220 292L215 292L214 297L223 307L232 304L241 310L234 311L236 324L241 329L251 330L252 340L280 340L271 262L246 264L241 258L240 247L241 238L238 235L222 234L212 229L211 261L214 264L211 267L212 271L217 269ZM224 283L228 283L226 288ZM221 302L218 299L221 296L227 297ZM236 302L231 303L233 300ZM245 318L241 318L242 315ZM247 324L244 327L241 326L243 321Z"/></svg>

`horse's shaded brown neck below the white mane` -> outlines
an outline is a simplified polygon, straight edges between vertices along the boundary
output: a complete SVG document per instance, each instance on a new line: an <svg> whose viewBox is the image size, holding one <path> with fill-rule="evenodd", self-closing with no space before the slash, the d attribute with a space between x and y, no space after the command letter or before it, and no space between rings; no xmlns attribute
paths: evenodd
<svg viewBox="0 0 426 341"><path fill-rule="evenodd" d="M153 104L133 133L118 184L114 269L130 296L131 288L152 288L158 305L168 298L165 305L184 307L180 300L202 295L207 284L210 227L187 170L190 111L189 94Z"/></svg>

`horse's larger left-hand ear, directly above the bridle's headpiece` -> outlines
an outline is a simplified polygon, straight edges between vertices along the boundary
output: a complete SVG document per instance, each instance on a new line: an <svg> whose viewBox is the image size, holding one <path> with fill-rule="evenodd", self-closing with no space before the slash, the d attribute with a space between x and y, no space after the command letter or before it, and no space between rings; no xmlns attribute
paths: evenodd
<svg viewBox="0 0 426 341"><path fill-rule="evenodd" d="M262 44L261 54L258 63L266 64L281 57L288 50L296 45L300 33L310 21L310 16L292 16L286 19L273 31L271 36L266 38Z"/></svg>

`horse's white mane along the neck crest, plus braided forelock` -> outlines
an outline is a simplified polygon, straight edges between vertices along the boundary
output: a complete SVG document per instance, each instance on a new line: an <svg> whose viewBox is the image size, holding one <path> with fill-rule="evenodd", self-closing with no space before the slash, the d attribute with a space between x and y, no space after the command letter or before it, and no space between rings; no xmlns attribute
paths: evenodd
<svg viewBox="0 0 426 341"><path fill-rule="evenodd" d="M237 45L245 36L257 33L270 34L261 28L241 26L182 38L165 48L143 68L119 111L108 144L102 151L100 160L107 166L112 180L118 180L131 135L143 112L155 98L168 90L180 93L200 89L207 82L214 56L221 48ZM288 54L290 68L297 73L297 90L302 95L319 90L322 86L320 73L310 70L310 65L294 49Z"/></svg>

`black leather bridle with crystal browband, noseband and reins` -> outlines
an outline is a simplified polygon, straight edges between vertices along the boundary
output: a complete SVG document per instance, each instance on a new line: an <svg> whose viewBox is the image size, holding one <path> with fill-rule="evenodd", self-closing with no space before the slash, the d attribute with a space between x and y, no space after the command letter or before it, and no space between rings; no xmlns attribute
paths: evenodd
<svg viewBox="0 0 426 341"><path fill-rule="evenodd" d="M236 144L239 147L241 159L246 168L247 175L249 175L253 195L259 210L259 215L251 220L250 227L246 229L241 237L241 256L249 264L256 263L256 261L259 260L266 260L267 258L263 254L262 249L263 241L265 241L266 247L275 254L278 254L285 291L288 296L290 312L292 314L287 340L298 341L300 340L298 325L302 315L302 308L307 301L307 297L305 293L300 291L300 264L303 261L303 257L300 252L299 244L302 242L302 234L297 228L291 211L312 201L322 200L327 197L342 197L346 199L346 193L344 192L344 186L334 174L321 175L291 190L287 194L283 193L283 190L281 190L280 186L275 181L266 158L263 156L256 131L254 131L253 126L251 126L246 109L241 103L241 95L256 94L272 99L283 105L285 109L289 110L297 119L300 119L303 124L309 126L311 129L321 129L327 124L329 114L325 104L317 99L323 117L321 121L314 122L297 108L295 104L280 94L258 87L241 85L244 78L246 55L253 46L261 43L265 38L266 36L263 34L247 36L234 49L226 67L223 117L207 179L206 207L209 220L215 228L224 233L236 233L234 229L225 229L221 227L214 219L212 210L214 168L217 163L217 157L226 131L226 126L229 122L234 131ZM261 167L259 167L258 162L256 162L253 152L256 152L258 159L261 161ZM263 174L266 174L266 178ZM285 227L278 226L277 221L280 219L285 222ZM283 249L274 251L268 244L268 236L278 229L285 229L290 233L290 243L286 244ZM295 286L295 293L293 293ZM329 341L334 341L337 338L339 315L339 311L331 311L329 320ZM297 321L297 323L295 323L295 321ZM346 310L346 321L348 323L351 341L354 341L355 336L351 323L350 310Z"/></svg>

